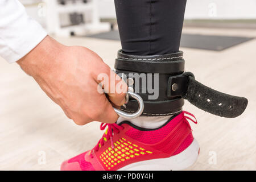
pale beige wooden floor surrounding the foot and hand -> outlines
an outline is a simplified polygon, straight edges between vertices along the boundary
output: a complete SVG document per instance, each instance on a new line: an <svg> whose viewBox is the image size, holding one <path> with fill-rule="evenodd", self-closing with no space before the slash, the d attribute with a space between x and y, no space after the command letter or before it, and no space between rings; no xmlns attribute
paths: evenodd
<svg viewBox="0 0 256 182"><path fill-rule="evenodd" d="M253 36L256 30L185 28L206 35ZM86 46L113 67L119 42L91 38L58 38L61 43ZM197 80L222 92L249 99L242 116L225 119L189 103L192 125L200 144L199 158L190 170L256 169L256 39L222 52L181 48L186 69ZM63 160L94 147L102 135L100 123L76 126L18 65L0 60L0 169L59 170ZM45 164L44 164L45 156Z"/></svg>

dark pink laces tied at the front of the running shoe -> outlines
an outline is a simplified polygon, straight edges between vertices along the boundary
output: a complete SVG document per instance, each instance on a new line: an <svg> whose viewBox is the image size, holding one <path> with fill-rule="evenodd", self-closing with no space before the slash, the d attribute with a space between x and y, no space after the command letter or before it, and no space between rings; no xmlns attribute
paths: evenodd
<svg viewBox="0 0 256 182"><path fill-rule="evenodd" d="M114 148L114 143L113 143L113 134L114 133L119 133L120 130L123 129L122 126L119 126L115 123L113 124L108 124L108 123L101 123L101 126L100 126L100 129L101 130L105 130L106 126L108 126L108 131L107 133L105 133L102 138L98 141L98 143L96 144L96 146L92 149L92 151L90 152L90 157L93 158L93 155L92 155L92 152L93 151L98 151L100 146L104 146L104 142L106 142L106 140L109 140L111 141L111 146L112 148ZM106 138L106 140L104 140L104 138Z"/></svg>

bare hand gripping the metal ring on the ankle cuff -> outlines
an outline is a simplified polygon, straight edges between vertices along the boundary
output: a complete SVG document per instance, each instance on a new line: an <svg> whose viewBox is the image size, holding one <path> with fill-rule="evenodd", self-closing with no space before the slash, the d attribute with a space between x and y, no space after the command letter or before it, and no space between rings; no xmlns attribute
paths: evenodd
<svg viewBox="0 0 256 182"><path fill-rule="evenodd" d="M98 84L102 80L98 80L98 75L105 73L110 78L113 71L88 48L67 47L47 36L17 63L77 125L117 121L113 105L125 103L127 85L112 73L116 78L114 84L125 92L109 93L108 98L105 93L99 93ZM102 84L103 89L109 89L106 83Z"/></svg>

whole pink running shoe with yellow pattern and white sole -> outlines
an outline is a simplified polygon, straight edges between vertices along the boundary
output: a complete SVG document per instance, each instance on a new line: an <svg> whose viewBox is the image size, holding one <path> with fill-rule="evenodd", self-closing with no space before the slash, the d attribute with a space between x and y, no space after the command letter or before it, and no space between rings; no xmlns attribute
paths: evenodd
<svg viewBox="0 0 256 182"><path fill-rule="evenodd" d="M108 126L96 146L61 164L63 171L181 170L192 166L199 155L188 120L182 111L158 129L143 129L129 121ZM111 132L112 131L112 132Z"/></svg>

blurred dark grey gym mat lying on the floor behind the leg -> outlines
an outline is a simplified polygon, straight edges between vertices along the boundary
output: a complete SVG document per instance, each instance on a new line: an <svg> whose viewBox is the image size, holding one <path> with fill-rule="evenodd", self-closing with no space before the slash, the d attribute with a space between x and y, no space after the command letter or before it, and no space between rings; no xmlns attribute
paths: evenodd
<svg viewBox="0 0 256 182"><path fill-rule="evenodd" d="M120 40L118 31L109 31L100 34L88 35L90 38ZM254 38L238 36L216 36L199 34L182 34L180 47L222 51Z"/></svg>

